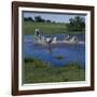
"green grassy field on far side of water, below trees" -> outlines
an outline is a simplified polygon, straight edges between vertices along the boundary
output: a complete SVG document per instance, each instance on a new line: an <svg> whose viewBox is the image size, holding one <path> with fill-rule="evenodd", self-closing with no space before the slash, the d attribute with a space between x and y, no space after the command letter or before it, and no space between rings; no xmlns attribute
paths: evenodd
<svg viewBox="0 0 97 97"><path fill-rule="evenodd" d="M67 25L65 23L32 23L23 22L24 34L33 34L34 29L38 28L42 33L72 33L67 31ZM73 31L73 33L82 33L82 31Z"/></svg>

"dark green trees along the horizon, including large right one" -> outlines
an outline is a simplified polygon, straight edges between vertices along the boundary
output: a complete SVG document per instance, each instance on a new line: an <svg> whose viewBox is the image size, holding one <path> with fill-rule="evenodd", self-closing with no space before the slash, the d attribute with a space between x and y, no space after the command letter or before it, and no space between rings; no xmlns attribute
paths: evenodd
<svg viewBox="0 0 97 97"><path fill-rule="evenodd" d="M41 16L24 17L25 22L37 22L37 23L56 23L51 19L44 19ZM85 18L81 16L75 16L74 18L69 18L69 23L66 23L66 29L68 31L85 31Z"/></svg>

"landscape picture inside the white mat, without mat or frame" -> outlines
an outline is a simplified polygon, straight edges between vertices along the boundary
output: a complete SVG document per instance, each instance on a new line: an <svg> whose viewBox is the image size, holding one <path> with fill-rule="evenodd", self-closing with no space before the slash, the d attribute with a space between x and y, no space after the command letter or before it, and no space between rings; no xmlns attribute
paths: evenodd
<svg viewBox="0 0 97 97"><path fill-rule="evenodd" d="M23 12L23 83L85 81L85 16Z"/></svg>

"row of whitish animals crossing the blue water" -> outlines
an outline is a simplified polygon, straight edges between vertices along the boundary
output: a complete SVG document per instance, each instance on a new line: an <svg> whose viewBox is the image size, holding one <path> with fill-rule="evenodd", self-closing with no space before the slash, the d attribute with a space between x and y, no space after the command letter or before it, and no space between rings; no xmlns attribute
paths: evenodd
<svg viewBox="0 0 97 97"><path fill-rule="evenodd" d="M58 40L57 37L45 37L42 33L40 33L39 29L34 30L34 37L36 37L36 42L44 45L51 45L51 44L59 44L59 43L68 43L68 44L83 44L84 42L79 41L77 36L73 36L70 38L69 34L65 37L64 40Z"/></svg>

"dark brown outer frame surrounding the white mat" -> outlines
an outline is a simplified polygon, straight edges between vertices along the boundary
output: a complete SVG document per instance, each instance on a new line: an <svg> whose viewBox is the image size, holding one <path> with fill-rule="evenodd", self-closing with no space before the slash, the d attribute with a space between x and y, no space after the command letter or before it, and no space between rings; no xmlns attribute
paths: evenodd
<svg viewBox="0 0 97 97"><path fill-rule="evenodd" d="M47 8L59 10L83 10L91 12L91 86L68 87L68 88L48 88L34 91L18 89L18 8ZM50 94L50 93L70 93L94 91L94 6L89 5L72 5L72 4L53 4L53 3L36 3L36 2L12 2L12 95L32 95L32 94Z"/></svg>

